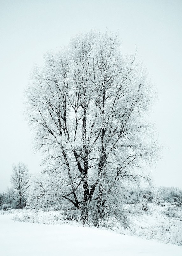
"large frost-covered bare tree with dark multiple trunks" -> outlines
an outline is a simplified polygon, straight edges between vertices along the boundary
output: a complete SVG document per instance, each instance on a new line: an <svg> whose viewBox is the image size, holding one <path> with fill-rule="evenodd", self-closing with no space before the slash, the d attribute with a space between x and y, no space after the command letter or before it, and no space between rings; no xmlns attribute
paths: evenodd
<svg viewBox="0 0 182 256"><path fill-rule="evenodd" d="M44 153L45 182L32 198L68 201L83 225L122 218L122 188L147 178L142 168L155 156L145 122L152 90L134 56L122 56L112 33L72 39L68 50L45 56L27 90L35 148ZM121 217L121 218L120 218Z"/></svg>

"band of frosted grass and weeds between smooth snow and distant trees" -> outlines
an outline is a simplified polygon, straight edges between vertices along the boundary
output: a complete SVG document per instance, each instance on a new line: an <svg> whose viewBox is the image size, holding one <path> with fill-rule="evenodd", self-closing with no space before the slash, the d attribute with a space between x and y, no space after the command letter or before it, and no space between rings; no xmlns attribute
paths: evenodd
<svg viewBox="0 0 182 256"><path fill-rule="evenodd" d="M163 188L163 190L168 191L168 193L166 192L165 198L169 200L170 198L167 194L172 194L170 191L174 189L175 188L171 188L171 190ZM175 189L175 191L179 190ZM127 226L126 222L124 222L123 225L119 225L114 219L106 219L100 222L99 228L107 229L110 232L125 236L128 235L129 237L140 237L140 241L142 241L142 239L148 239L165 244L182 246L182 204L178 202L164 202L163 199L162 202L157 205L152 196L150 201L146 201L146 198L143 199L143 197L142 200L140 198L137 203L131 204L130 202L123 205L123 216L127 219ZM1 215L8 214L9 219L18 222L59 224L61 225L60 227L62 227L63 224L80 228L82 226L78 211L63 211L56 205L47 208L47 210L28 209L25 207L19 210L1 210L0 213ZM90 222L88 221L86 226L94 228L91 220ZM96 233L97 232L98 231L96 231Z"/></svg>

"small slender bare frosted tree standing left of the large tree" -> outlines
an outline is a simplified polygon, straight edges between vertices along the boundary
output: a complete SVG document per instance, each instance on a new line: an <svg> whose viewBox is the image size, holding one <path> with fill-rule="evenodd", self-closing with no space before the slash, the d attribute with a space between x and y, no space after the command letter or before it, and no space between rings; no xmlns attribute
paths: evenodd
<svg viewBox="0 0 182 256"><path fill-rule="evenodd" d="M11 175L11 183L13 184L13 192L18 207L21 209L25 205L25 195L30 186L30 175L27 165L24 163L13 164L13 174Z"/></svg>

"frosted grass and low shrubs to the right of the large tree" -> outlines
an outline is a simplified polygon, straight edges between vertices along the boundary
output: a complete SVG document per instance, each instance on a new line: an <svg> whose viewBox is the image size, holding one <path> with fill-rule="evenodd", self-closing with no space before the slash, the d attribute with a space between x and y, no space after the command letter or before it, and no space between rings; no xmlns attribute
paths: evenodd
<svg viewBox="0 0 182 256"><path fill-rule="evenodd" d="M148 212L127 206L131 213L128 228L113 227L120 234L134 235L182 246L182 206L165 203L163 206L150 205Z"/></svg>

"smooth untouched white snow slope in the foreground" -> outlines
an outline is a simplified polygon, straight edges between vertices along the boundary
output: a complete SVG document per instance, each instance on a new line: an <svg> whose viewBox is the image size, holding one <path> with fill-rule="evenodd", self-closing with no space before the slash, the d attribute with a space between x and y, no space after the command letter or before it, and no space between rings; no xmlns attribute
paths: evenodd
<svg viewBox="0 0 182 256"><path fill-rule="evenodd" d="M3 256L182 256L182 247L68 224L14 222L0 215Z"/></svg>

